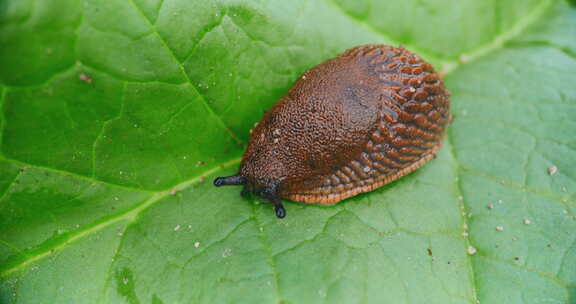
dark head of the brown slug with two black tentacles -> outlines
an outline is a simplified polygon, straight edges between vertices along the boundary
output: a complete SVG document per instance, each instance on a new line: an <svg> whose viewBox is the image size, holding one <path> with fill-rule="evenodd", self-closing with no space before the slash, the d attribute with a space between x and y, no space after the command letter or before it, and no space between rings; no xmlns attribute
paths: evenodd
<svg viewBox="0 0 576 304"><path fill-rule="evenodd" d="M260 196L264 199L269 200L274 204L274 211L276 217L284 218L286 216L286 209L282 205L282 201L279 197L279 182L277 180L266 180L260 181L258 183L250 182L247 178L240 174L232 176L217 177L214 179L214 186L244 186L240 195L247 197L250 193Z"/></svg>

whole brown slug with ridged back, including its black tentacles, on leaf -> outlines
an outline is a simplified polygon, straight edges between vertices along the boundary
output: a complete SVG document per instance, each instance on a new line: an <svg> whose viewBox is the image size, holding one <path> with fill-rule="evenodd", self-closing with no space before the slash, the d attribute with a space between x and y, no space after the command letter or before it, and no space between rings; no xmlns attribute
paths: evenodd
<svg viewBox="0 0 576 304"><path fill-rule="evenodd" d="M310 69L252 132L240 172L216 186L242 195L332 204L396 180L434 158L449 93L404 48L358 46Z"/></svg>

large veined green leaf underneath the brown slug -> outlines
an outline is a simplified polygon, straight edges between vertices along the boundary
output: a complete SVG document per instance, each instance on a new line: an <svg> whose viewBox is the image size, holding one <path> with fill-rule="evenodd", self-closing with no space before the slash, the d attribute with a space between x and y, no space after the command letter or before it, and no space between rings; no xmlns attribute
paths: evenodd
<svg viewBox="0 0 576 304"><path fill-rule="evenodd" d="M363 43L446 73L437 159L284 220L211 185ZM4 0L0 101L0 303L576 303L565 2Z"/></svg>

